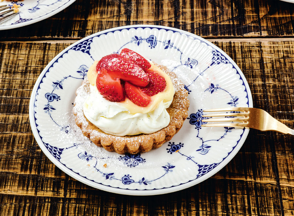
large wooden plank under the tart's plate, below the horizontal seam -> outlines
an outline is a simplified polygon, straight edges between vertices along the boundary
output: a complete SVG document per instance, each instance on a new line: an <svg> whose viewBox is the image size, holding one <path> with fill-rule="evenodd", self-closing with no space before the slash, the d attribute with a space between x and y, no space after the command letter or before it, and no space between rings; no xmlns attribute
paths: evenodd
<svg viewBox="0 0 294 216"><path fill-rule="evenodd" d="M239 65L254 106L294 128L293 38L210 41ZM29 97L46 64L73 42L0 42L0 216L293 215L294 141L276 132L251 130L220 172L166 195L117 195L62 172L31 133Z"/></svg>

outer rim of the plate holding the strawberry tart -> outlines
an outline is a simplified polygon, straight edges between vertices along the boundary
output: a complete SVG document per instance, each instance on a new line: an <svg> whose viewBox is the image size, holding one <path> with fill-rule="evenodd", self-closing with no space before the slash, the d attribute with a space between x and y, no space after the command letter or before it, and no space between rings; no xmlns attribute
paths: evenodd
<svg viewBox="0 0 294 216"><path fill-rule="evenodd" d="M74 0L75 1L75 0ZM201 41L205 41L207 44L211 45L213 48L216 48L216 50L218 50L218 52L220 52L221 54L223 54L229 61L230 63L235 67L235 69L237 70L238 74L240 75L241 80L243 81L243 85L245 86L245 91L247 92L247 96L248 96L248 105L249 107L253 107L253 99L252 99L252 94L250 91L250 87L249 84L243 74L243 72L240 70L240 68L238 67L238 65L230 58L230 56L228 56L228 54L226 54L223 50L221 50L219 47L217 47L216 45L214 45L213 43L211 43L210 41L207 41L206 39L197 36L193 33L189 33L187 31L184 30L180 30L177 28L172 28L172 27L167 27L167 26L158 26L158 25L130 25L130 26L120 26L120 27L116 27L116 28L110 28L110 29L106 29L94 34L91 34L85 38L82 38L79 41L76 41L75 43L69 45L67 48L65 48L64 50L62 50L59 54L57 54L44 68L44 70L42 70L42 72L40 73L38 79L35 82L34 88L31 92L31 97L30 97L30 103L29 103L29 120L30 120L30 125L31 125L31 129L32 132L34 134L34 138L36 139L37 144L39 145L39 147L41 148L41 150L43 151L43 153L49 158L49 160L58 168L60 168L62 171L64 171L66 174L68 174L69 176L71 176L72 178L75 178L76 180L89 185L93 188L97 188L100 190L104 190L104 191L108 191L111 193L118 193L118 194L125 194L125 195L159 195L159 194L165 194L165 193L172 193L172 192L176 192L179 190L183 190L186 188L189 188L193 185L196 185L198 183L201 183L202 181L210 178L211 176L213 176L214 174L216 174L217 172L219 172L224 166L226 166L229 161L231 161L231 159L238 153L238 151L240 150L240 148L243 146L248 133L249 133L249 129L243 129L243 134L241 134L240 139L237 141L236 146L233 148L233 150L231 152L229 152L229 155L221 162L221 164L218 165L217 168L213 169L212 171L210 171L209 173L207 173L204 176L201 176L197 179L194 180L190 180L187 183L181 183L179 185L175 185L172 187L168 187L168 188L160 188L160 189L144 189L144 190L139 190L139 189L122 189L122 188L116 188L113 186L107 186L104 185L103 183L97 183L94 182L88 178L84 178L83 176L81 176L80 174L77 174L76 172L72 171L70 168L68 168L66 165L64 165L63 163L61 163L60 161L56 160L56 158L54 158L54 156L51 155L51 153L48 151L48 149L46 149L44 142L41 140L40 135L38 133L38 129L36 127L35 124L35 116L34 116L34 103L36 100L36 94L37 94L37 90L39 89L39 85L42 82L42 79L44 78L44 74L49 70L50 67L52 67L52 65L56 62L56 60L58 60L62 55L64 55L64 53L66 53L67 51L69 51L72 47L74 47L75 45L86 41L88 38L93 38L95 36L99 36L105 33L110 33L110 32L115 32L115 31L122 31L123 29L131 29L131 28L157 28L157 29L165 29L166 31L173 31L173 32L178 32L180 34L185 34L187 36L191 36L193 38L197 38L200 39ZM245 82L244 82L245 81ZM39 144L39 142L42 144Z"/></svg>

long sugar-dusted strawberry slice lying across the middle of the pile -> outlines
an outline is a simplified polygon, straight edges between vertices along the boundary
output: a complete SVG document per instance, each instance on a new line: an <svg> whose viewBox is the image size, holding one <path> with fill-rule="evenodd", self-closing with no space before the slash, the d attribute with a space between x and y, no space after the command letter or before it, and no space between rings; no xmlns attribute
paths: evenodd
<svg viewBox="0 0 294 216"><path fill-rule="evenodd" d="M139 87L145 87L149 82L148 75L139 65L118 54L104 56L96 65L97 71L101 68L105 68L111 76L119 77Z"/></svg>

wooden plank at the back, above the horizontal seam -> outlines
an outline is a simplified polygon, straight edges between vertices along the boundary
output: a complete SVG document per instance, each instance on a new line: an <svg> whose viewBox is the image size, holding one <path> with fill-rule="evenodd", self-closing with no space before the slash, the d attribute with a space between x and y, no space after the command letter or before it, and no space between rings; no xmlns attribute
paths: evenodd
<svg viewBox="0 0 294 216"><path fill-rule="evenodd" d="M0 40L81 39L109 28L151 24L206 38L289 37L294 4L278 0L77 0L58 14L1 31Z"/></svg>

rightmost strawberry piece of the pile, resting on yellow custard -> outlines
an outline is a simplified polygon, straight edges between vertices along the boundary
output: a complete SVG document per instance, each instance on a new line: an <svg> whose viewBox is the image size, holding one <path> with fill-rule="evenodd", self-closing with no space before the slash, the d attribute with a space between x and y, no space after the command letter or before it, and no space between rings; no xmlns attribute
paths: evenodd
<svg viewBox="0 0 294 216"><path fill-rule="evenodd" d="M151 70L149 70L147 74L150 81L146 87L141 89L142 92L149 96L162 92L166 87L166 80L161 75Z"/></svg>

